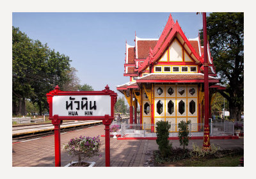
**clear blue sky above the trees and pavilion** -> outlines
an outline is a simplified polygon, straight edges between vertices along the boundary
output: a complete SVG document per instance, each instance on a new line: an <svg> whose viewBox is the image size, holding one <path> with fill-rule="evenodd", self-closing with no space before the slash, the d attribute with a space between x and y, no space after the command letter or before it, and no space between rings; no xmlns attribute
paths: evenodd
<svg viewBox="0 0 256 179"><path fill-rule="evenodd" d="M124 77L125 41L159 38L170 13L12 13L12 25L33 40L70 57L81 84L95 90L129 81ZM187 38L198 36L202 15L172 13ZM117 91L116 91L117 92ZM120 95L120 93L118 93Z"/></svg>

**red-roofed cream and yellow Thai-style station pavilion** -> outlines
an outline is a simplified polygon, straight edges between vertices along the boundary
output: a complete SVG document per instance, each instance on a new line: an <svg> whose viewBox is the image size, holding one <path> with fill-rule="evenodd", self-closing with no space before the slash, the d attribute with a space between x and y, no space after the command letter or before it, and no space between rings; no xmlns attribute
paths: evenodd
<svg viewBox="0 0 256 179"><path fill-rule="evenodd" d="M204 48L209 65L210 104L214 93L223 89L218 84L209 43L203 47L199 34L187 38L172 15L159 39L135 34L134 42L133 46L126 43L125 51L124 76L130 80L117 86L130 106L130 123L204 123ZM134 114L139 105L137 118Z"/></svg>

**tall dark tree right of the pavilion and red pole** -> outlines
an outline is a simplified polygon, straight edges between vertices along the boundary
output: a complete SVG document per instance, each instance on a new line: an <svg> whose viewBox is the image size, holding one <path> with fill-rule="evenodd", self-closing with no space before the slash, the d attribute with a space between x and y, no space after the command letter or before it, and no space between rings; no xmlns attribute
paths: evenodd
<svg viewBox="0 0 256 179"><path fill-rule="evenodd" d="M203 36L203 30L200 30ZM207 36L221 83L220 94L227 98L230 118L241 121L244 108L244 13L210 13ZM201 38L202 39L202 38ZM201 41L201 45L204 42Z"/></svg>

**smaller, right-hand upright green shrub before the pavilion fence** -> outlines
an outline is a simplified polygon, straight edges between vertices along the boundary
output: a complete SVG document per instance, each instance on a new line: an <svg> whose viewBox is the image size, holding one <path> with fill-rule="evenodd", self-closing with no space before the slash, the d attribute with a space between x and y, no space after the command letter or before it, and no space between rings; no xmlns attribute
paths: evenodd
<svg viewBox="0 0 256 179"><path fill-rule="evenodd" d="M185 121L180 121L180 123L178 124L179 127L179 141L180 141L180 146L183 146L183 150L185 150L185 146L188 146L188 142L189 142L189 130L188 130L188 125L189 123L191 123L191 121L189 120L188 122Z"/></svg>

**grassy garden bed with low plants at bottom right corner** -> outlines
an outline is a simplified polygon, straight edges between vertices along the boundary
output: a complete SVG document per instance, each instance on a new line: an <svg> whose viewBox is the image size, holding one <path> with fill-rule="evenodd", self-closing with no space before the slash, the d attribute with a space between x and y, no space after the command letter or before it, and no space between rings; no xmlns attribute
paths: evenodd
<svg viewBox="0 0 256 179"><path fill-rule="evenodd" d="M244 155L243 148L220 149L211 145L211 150L193 145L193 150L172 148L171 155L163 158L159 150L154 151L154 166L182 167L237 167ZM243 160L241 160L243 164Z"/></svg>

